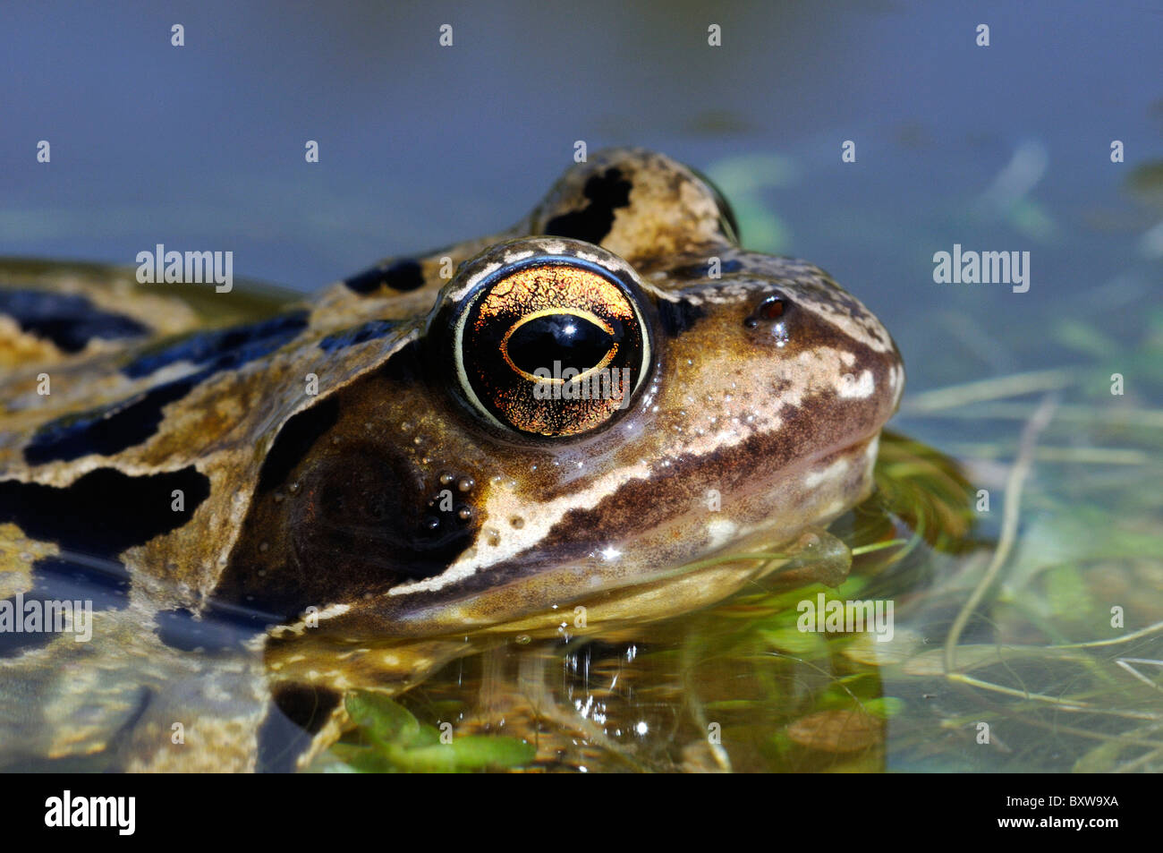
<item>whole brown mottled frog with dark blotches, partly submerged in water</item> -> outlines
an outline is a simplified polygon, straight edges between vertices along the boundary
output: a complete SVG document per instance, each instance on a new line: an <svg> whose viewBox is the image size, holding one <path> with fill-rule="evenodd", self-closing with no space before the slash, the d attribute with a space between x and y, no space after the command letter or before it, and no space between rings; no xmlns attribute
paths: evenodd
<svg viewBox="0 0 1163 853"><path fill-rule="evenodd" d="M312 297L0 276L16 767L302 769L347 691L720 602L870 493L905 384L856 297L637 148Z"/></svg>

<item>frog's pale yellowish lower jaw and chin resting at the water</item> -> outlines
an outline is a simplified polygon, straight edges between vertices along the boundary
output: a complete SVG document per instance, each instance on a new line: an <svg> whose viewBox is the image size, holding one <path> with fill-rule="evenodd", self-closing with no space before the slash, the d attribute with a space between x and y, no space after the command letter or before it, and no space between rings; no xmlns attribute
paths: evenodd
<svg viewBox="0 0 1163 853"><path fill-rule="evenodd" d="M813 568L805 578L839 583L847 548L823 528L871 490L877 443L875 435L806 460L747 502L733 500L740 504L734 516L680 514L649 535L592 550L586 561L508 561L438 595L380 595L335 612L333 626L379 639L552 633L568 630L578 607L591 627L654 621L714 604L773 573L795 577L807 562ZM699 535L691 534L695 524Z"/></svg>

